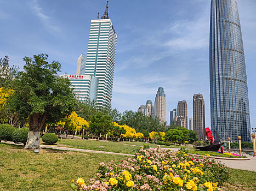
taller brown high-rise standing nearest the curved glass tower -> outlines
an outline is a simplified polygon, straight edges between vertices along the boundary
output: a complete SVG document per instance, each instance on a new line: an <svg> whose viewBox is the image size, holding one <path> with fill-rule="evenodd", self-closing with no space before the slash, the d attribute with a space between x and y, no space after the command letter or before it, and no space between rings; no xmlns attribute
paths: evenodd
<svg viewBox="0 0 256 191"><path fill-rule="evenodd" d="M197 133L199 140L206 139L204 129L206 128L205 115L204 115L204 100L203 95L198 93L193 96L193 127L194 132Z"/></svg>

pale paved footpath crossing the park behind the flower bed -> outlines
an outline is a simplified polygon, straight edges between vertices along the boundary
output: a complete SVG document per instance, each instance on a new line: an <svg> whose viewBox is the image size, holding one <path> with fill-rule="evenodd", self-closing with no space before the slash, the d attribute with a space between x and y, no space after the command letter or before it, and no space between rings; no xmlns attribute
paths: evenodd
<svg viewBox="0 0 256 191"><path fill-rule="evenodd" d="M14 144L14 142L7 141L7 144ZM14 144L20 145L20 144ZM133 154L124 154L124 153L114 153L114 152L106 152L106 151L93 151L93 150L84 150L80 148L69 148L69 147L57 147L51 145L40 145L41 148L51 148L55 150L62 151L78 151L78 152L89 152L89 153L102 153L102 154L119 154L123 156L134 156ZM168 148L163 148L168 149ZM178 151L178 148L169 148L172 151ZM227 167L232 169L242 169L256 172L256 157L247 156L251 160L225 160L225 159L217 159L221 163L225 164Z"/></svg>

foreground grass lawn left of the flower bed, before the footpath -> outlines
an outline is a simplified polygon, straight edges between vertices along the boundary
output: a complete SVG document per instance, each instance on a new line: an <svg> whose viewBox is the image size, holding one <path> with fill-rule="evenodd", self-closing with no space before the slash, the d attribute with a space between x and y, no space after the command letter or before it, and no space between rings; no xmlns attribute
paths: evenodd
<svg viewBox="0 0 256 191"><path fill-rule="evenodd" d="M0 190L71 190L72 179L89 183L100 162L125 156L42 149L38 154L23 146L0 143Z"/></svg>

